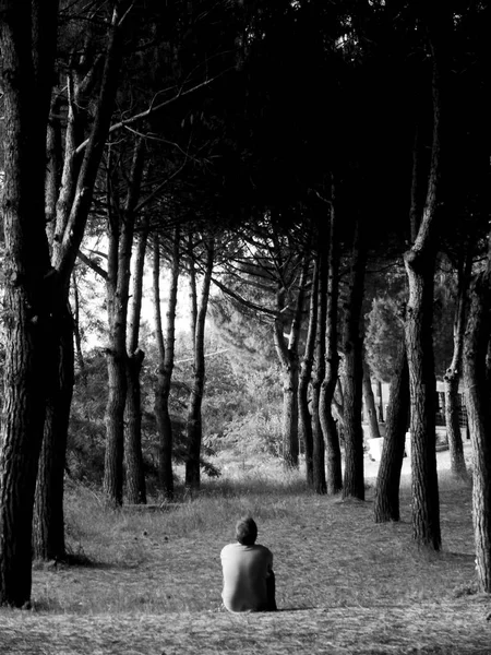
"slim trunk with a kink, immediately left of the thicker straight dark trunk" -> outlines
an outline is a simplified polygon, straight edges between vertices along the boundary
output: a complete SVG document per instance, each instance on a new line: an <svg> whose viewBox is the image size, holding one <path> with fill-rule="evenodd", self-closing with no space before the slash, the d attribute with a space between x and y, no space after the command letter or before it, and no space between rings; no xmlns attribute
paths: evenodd
<svg viewBox="0 0 491 655"><path fill-rule="evenodd" d="M338 380L339 356L337 353L337 317L339 298L339 261L337 224L335 215L334 184L332 186L330 213L330 252L326 287L326 322L325 322L325 369L320 393L320 419L325 442L326 454L326 490L328 495L337 493L343 488L343 469L339 436L333 416L334 392Z"/></svg>

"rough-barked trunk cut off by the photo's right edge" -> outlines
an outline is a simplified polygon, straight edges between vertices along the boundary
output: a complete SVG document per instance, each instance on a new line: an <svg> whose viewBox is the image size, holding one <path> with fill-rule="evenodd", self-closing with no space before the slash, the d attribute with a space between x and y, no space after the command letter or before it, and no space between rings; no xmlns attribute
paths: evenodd
<svg viewBox="0 0 491 655"><path fill-rule="evenodd" d="M472 519L479 587L491 593L491 409L489 270L471 286L464 346L466 406L472 443Z"/></svg>

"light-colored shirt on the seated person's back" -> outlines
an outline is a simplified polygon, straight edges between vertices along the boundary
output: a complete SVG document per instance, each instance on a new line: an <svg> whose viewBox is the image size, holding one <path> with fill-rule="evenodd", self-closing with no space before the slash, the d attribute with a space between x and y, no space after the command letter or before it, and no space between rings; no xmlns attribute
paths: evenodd
<svg viewBox="0 0 491 655"><path fill-rule="evenodd" d="M228 544L220 552L224 572L221 598L229 611L261 611L267 606L266 579L273 553L265 546Z"/></svg>

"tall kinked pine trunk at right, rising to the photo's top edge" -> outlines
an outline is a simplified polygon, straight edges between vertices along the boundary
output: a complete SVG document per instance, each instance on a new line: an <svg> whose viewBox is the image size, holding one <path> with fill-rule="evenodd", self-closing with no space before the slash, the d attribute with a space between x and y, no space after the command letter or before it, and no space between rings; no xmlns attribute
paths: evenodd
<svg viewBox="0 0 491 655"><path fill-rule="evenodd" d="M439 211L444 200L442 148L447 138L444 124L444 83L448 70L445 39L452 33L452 14L447 8L441 8L436 20L432 9L421 7L421 11L432 56L433 135L422 217L416 240L404 257L409 284L405 333L411 397L412 536L420 546L439 550L442 539L435 452L436 382L432 320L435 239ZM418 162L418 147L415 147L414 156L415 163ZM415 178L414 183L417 183Z"/></svg>

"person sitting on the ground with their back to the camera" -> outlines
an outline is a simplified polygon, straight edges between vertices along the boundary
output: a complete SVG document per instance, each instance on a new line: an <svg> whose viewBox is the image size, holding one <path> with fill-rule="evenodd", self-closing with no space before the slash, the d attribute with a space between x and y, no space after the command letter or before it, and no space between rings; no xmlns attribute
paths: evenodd
<svg viewBox="0 0 491 655"><path fill-rule="evenodd" d="M237 543L220 553L225 607L229 611L276 610L273 553L255 544L258 526L252 517L237 522L236 537Z"/></svg>

